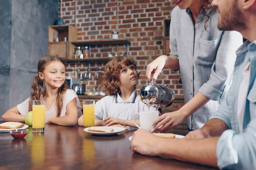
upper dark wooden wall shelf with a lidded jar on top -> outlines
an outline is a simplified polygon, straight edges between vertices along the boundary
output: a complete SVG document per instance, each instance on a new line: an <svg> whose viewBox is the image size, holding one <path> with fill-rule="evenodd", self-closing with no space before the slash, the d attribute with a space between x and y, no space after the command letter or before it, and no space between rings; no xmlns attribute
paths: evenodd
<svg viewBox="0 0 256 170"><path fill-rule="evenodd" d="M108 40L90 40L90 41L73 41L72 44L76 46L86 45L105 45L105 44L131 44L127 39L108 39Z"/></svg>

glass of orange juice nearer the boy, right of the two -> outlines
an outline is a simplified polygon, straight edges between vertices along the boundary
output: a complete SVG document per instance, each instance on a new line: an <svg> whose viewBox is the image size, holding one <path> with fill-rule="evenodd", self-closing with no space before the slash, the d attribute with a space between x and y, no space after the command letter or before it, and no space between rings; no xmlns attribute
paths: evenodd
<svg viewBox="0 0 256 170"><path fill-rule="evenodd" d="M95 100L83 100L84 127L94 126Z"/></svg>

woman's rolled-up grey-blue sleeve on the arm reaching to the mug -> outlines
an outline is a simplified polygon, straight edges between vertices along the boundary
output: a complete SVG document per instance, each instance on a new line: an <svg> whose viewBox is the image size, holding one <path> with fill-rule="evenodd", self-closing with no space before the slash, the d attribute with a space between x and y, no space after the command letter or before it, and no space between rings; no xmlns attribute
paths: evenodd
<svg viewBox="0 0 256 170"><path fill-rule="evenodd" d="M219 100L229 83L236 61L236 50L242 45L242 36L237 31L223 31L209 80L199 91L211 100Z"/></svg>

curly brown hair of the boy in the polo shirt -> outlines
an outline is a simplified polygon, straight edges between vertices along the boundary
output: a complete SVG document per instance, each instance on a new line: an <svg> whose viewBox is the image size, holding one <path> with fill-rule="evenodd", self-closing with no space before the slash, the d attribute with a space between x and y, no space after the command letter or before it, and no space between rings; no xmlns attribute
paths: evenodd
<svg viewBox="0 0 256 170"><path fill-rule="evenodd" d="M117 56L113 57L108 61L105 66L104 71L104 82L100 87L103 88L103 91L107 95L116 95L120 92L120 81L119 74L122 69L122 64L129 66L133 65L134 69L137 71L137 65L135 60L131 57L127 56ZM138 79L140 78L140 73L138 73ZM134 85L134 89L136 89L136 85Z"/></svg>

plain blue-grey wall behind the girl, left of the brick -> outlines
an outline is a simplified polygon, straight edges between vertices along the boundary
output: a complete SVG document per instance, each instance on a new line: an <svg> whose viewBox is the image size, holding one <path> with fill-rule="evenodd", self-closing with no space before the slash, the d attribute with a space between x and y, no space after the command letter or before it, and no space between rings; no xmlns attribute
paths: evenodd
<svg viewBox="0 0 256 170"><path fill-rule="evenodd" d="M30 96L56 19L58 0L0 0L0 116Z"/></svg>

